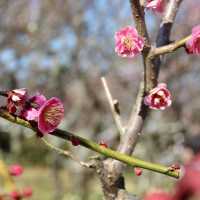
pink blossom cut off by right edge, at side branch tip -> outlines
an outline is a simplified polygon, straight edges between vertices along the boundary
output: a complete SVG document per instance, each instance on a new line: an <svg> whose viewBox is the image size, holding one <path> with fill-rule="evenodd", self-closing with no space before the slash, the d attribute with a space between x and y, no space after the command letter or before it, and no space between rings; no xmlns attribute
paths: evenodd
<svg viewBox="0 0 200 200"><path fill-rule="evenodd" d="M188 53L200 55L200 25L192 29L192 37L186 42Z"/></svg>

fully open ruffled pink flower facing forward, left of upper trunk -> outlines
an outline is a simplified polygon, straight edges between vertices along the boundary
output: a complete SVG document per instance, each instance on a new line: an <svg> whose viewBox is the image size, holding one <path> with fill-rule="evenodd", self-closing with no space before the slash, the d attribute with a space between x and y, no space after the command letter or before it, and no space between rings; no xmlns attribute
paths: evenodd
<svg viewBox="0 0 200 200"><path fill-rule="evenodd" d="M144 38L134 27L127 26L115 33L115 52L118 56L132 58L144 47Z"/></svg>

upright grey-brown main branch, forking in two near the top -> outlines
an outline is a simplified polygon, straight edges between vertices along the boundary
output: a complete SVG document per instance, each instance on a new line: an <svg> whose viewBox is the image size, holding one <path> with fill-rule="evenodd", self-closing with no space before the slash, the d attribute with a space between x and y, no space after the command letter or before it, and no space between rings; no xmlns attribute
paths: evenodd
<svg viewBox="0 0 200 200"><path fill-rule="evenodd" d="M162 20L161 28L157 37L157 47L169 43L172 24L174 22L178 7L182 0L170 0L164 18ZM145 46L142 52L144 62L144 80L141 83L139 93L136 99L136 105L131 113L126 132L121 137L118 150L125 154L131 155L134 147L138 141L138 136L141 133L144 125L144 120L147 115L147 108L143 103L143 97L146 92L157 85L160 60L150 57L150 41L147 33L147 28L144 18L144 8L140 5L139 0L130 0L131 10L135 19L138 33L145 37ZM124 164L119 161L107 159L103 163L101 180L106 199L118 199L119 190L125 191L125 184L122 177ZM126 199L126 198L124 198Z"/></svg>

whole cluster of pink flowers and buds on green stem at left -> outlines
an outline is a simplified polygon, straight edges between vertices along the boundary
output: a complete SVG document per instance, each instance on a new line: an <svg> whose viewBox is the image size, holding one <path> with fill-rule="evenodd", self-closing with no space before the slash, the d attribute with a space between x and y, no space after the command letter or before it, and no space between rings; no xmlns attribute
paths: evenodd
<svg viewBox="0 0 200 200"><path fill-rule="evenodd" d="M38 124L42 134L53 132L64 117L64 106L57 97L47 99L42 94L29 96L26 89L7 92L9 113Z"/></svg>

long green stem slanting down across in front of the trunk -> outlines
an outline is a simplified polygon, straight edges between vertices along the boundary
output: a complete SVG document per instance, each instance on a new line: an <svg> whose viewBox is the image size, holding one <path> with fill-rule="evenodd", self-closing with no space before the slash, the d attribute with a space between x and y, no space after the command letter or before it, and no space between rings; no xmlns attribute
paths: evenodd
<svg viewBox="0 0 200 200"><path fill-rule="evenodd" d="M4 109L0 109L0 116L4 119L10 121L10 122L19 124L21 126L30 128L35 132L38 132L37 128L33 127L28 121L25 121L25 120L23 120L19 117L15 117L15 116L9 114ZM121 161L125 164L130 165L130 166L140 167L140 168L143 168L143 169L148 169L148 170L151 170L151 171L162 173L162 174L174 177L174 178L179 178L179 171L178 170L171 171L171 170L169 170L169 167L159 165L159 164L154 164L154 163L151 163L151 162L146 162L146 161L137 159L135 157L119 153L119 152L114 151L110 148L102 147L101 145L99 145L99 144L97 144L97 143L95 143L91 140L82 138L82 137L77 136L77 135L70 133L68 131L56 129L54 132L52 132L50 134L57 136L57 137L60 137L60 138L65 139L65 140L69 140L69 141L76 140L80 143L81 146L84 146L88 149L91 149L95 152L98 152L99 154L104 155L106 157L110 157L110 158L119 160L119 161Z"/></svg>

